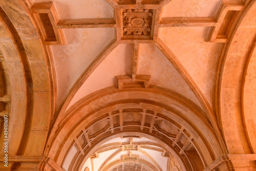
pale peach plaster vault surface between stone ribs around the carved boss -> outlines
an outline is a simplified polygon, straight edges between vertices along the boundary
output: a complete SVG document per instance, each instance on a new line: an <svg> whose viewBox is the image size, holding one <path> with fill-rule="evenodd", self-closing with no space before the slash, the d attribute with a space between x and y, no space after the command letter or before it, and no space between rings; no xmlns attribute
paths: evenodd
<svg viewBox="0 0 256 171"><path fill-rule="evenodd" d="M40 2L44 1L35 1L35 3ZM55 4L55 1L53 2ZM133 1L131 2L132 3L130 4L136 4ZM75 81L82 74L84 67L89 66L97 56L103 55L101 54L102 50L103 53L110 53L108 58L105 58L101 65L98 66L97 69L92 73L92 76L89 76L88 79L83 83L81 88L77 91L75 97L72 99L70 105L89 93L105 87L113 86L113 79L116 75L127 75L131 74L132 72L130 60L133 53L133 48L132 44L127 43L136 41L132 41L131 38L128 38L127 40L125 40L125 38L121 38L123 37L123 29L120 27L122 27L123 24L121 23L123 23L122 20L125 18L122 18L124 12L117 10L120 7L116 8L113 12L113 7L104 1L93 3L89 3L88 1L78 1L76 3L70 1L61 1L60 3L59 1L56 1L55 4L56 11L60 19L59 28L74 28L63 29L67 45L51 46L55 65L57 66L56 75L59 93L58 104L63 101ZM202 3L198 1L182 3L184 4L184 7L182 7L182 14L179 14L181 12L177 13L177 11L173 10L175 5L177 6L177 3L181 2L173 1L168 3L166 6L155 5L154 8L156 11L155 14L153 13L153 15L156 15L156 13L159 12L158 15L162 15L163 17L162 23L168 19L173 19L173 21L170 21L169 23L175 23L176 19L180 19L181 21L178 22L183 23L184 18L179 17L205 17L201 19L202 21L199 20L199 22L205 22L203 19L212 19L212 23L209 24L212 25L221 1L210 1L210 5L208 2ZM125 3L124 1L124 4L129 3ZM97 8L95 7L96 5ZM90 8L90 10L87 11L80 8L82 6L87 6ZM136 5L132 6L134 6L133 8L136 8ZM212 12L205 14L204 11ZM160 15L160 13L162 14ZM102 24L99 24L99 26L91 26L103 28L77 29L86 28L87 26L80 25L79 23L75 25L71 20L68 20L81 18L99 18L100 20L102 18L112 18L113 15L121 20L119 21L116 19L116 24L112 25L104 25L103 22ZM66 22L61 22L61 20L66 20ZM88 20L88 22L92 21ZM118 22L121 24L120 26L118 26ZM202 92L202 95L205 96L205 102L207 100L207 103L212 106L214 70L217 56L221 51L221 44L215 42L209 43L205 41L209 27L204 27L205 24L201 24L201 26L200 24L194 24L193 27L169 27L167 25L157 24L158 21L155 21L155 18L153 18L152 22L156 22L156 29L154 30L154 36L156 37L152 38L152 41L139 38L141 40L138 42L143 42L143 44L138 45L140 47L138 48L139 53L137 54L138 58L136 59L138 61L138 69L135 71L136 74L151 75L152 84L174 90L194 101L198 105L201 105L193 91L191 91L191 88L188 86L186 82L187 80L182 78L180 73L177 72L177 68L175 68L172 63L168 62L168 59L163 55L163 52L161 52L159 48L154 45L153 42L156 42L157 39L160 38L163 45L172 50L177 59L181 62L181 65L184 66L184 69L189 72L192 79L198 85L199 90ZM62 23L65 23L65 25L62 25ZM112 23L115 23L114 19ZM160 28L157 28L159 25ZM115 31L113 27L117 27L117 31ZM151 32L153 35L153 27ZM132 33L132 35L133 34L134 33ZM135 38L132 39L136 40L136 36L134 37ZM119 39L121 40L119 41ZM113 45L110 44L112 40L114 40L114 42L112 42ZM147 41L149 44L144 44ZM107 45L109 45L109 47L105 48ZM161 44L159 46L163 45ZM120 52L123 52L124 54L120 55ZM163 63L167 66L163 66ZM191 65L191 63L193 63L193 65ZM159 66L163 67L159 68ZM69 70L67 70L67 68L69 68ZM165 70L162 68L165 68Z"/></svg>

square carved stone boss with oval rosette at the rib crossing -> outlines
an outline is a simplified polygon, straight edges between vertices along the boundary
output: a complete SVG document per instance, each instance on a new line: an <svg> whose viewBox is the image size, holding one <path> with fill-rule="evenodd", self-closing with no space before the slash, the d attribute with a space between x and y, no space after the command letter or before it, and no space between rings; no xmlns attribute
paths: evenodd
<svg viewBox="0 0 256 171"><path fill-rule="evenodd" d="M152 12L149 9L129 9L123 12L123 35L148 35Z"/></svg>

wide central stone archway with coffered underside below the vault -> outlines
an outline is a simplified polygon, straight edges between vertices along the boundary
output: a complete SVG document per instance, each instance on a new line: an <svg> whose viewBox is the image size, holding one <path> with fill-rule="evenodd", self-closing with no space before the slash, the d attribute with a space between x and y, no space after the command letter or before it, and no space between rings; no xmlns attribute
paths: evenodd
<svg viewBox="0 0 256 171"><path fill-rule="evenodd" d="M151 139L165 144L168 151L183 165L183 170L196 170L199 165L193 164L195 162L202 162L202 167L207 167L221 152L220 148L216 148L219 146L218 140L216 135L212 134L207 120L204 120L204 113L189 100L186 101L187 108L184 108L181 104L185 103L184 97L164 90L162 92L164 93L154 89L117 91L115 88L108 88L83 98L67 111L67 119L59 119L59 130L52 143L57 151L53 148L50 155L62 165L72 146L78 144L79 154L75 155L70 170L80 170L79 167L92 155L93 149L98 147L100 142L112 136L132 133L150 136ZM173 130L176 130L173 134L167 130L171 125L175 127ZM61 135L62 142L58 138ZM181 137L185 138L183 142ZM84 144L79 144L78 141ZM189 145L195 149L196 161L191 161L191 154L186 151Z"/></svg>

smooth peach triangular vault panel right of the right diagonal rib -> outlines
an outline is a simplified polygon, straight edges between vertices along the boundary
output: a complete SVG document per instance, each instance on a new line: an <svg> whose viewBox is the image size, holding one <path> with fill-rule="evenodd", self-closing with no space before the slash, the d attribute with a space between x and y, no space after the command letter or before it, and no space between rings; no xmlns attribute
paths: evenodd
<svg viewBox="0 0 256 171"><path fill-rule="evenodd" d="M160 37L196 81L212 106L212 91L221 44L205 42L208 27L161 28Z"/></svg>

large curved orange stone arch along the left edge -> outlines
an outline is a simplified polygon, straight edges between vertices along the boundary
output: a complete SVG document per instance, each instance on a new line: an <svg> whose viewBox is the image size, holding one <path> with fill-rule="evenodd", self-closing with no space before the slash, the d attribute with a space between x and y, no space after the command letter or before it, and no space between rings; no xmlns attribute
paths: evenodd
<svg viewBox="0 0 256 171"><path fill-rule="evenodd" d="M12 100L8 154L41 156L44 151L41 144L46 142L52 112L49 63L22 4L15 0L2 2L0 11L0 49L7 64ZM24 158L11 162L11 169L16 169L15 163Z"/></svg>

